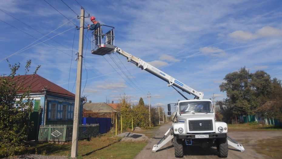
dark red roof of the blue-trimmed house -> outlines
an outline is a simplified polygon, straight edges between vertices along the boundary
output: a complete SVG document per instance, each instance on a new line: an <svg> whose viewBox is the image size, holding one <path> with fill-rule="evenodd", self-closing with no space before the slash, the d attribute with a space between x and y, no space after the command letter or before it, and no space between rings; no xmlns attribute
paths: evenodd
<svg viewBox="0 0 282 159"><path fill-rule="evenodd" d="M62 95L65 97L72 97L72 98L75 98L76 96L72 92L69 92L68 90L56 85L51 81L48 81L47 79L39 76L38 74L19 75L16 76L15 79L17 79L18 77L19 77L19 82L23 82L24 88L27 88L29 85L31 85L30 93L41 93L44 92L43 89L46 88L48 93L52 93L55 95ZM23 93L23 92L25 92L25 90L19 90L17 93Z"/></svg>

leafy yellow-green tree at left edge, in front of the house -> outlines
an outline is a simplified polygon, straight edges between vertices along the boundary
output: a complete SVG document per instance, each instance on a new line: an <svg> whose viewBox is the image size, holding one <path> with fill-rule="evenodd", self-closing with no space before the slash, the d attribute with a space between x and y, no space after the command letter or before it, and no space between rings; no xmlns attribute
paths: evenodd
<svg viewBox="0 0 282 159"><path fill-rule="evenodd" d="M8 60L7 60L8 61ZM9 61L8 61L9 63ZM30 71L31 60L25 66L25 75ZM30 95L30 85L23 87L16 72L20 63L11 65L11 74L0 77L0 156L13 155L16 150L21 150L27 140L29 115L33 111ZM38 66L34 72L38 71ZM25 77L25 76L24 76ZM19 90L25 90L23 94L17 94Z"/></svg>

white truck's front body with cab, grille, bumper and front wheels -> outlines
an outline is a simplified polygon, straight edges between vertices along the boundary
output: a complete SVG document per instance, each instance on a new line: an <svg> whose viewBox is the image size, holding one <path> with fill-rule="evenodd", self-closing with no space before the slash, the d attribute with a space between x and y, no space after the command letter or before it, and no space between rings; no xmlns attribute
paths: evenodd
<svg viewBox="0 0 282 159"><path fill-rule="evenodd" d="M168 110L170 111L170 104ZM227 124L216 121L211 100L179 101L177 111L173 115L173 144L176 157L183 156L183 145L202 148L216 146L219 156L227 157Z"/></svg>

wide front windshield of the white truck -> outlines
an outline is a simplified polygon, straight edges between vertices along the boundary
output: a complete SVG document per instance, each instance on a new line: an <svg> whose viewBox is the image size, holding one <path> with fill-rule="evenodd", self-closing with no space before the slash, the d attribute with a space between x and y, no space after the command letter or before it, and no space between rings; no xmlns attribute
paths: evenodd
<svg viewBox="0 0 282 159"><path fill-rule="evenodd" d="M188 113L213 113L211 102L209 101L191 101L179 103L180 114Z"/></svg>

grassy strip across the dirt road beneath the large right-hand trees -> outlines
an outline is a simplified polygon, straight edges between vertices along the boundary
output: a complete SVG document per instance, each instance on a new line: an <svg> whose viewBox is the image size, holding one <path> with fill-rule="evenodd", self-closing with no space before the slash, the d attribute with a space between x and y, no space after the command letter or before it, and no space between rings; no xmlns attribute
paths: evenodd
<svg viewBox="0 0 282 159"><path fill-rule="evenodd" d="M282 131L282 127L254 123L228 124L228 132L234 131Z"/></svg>

